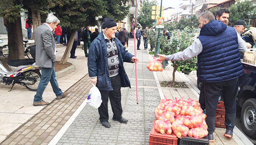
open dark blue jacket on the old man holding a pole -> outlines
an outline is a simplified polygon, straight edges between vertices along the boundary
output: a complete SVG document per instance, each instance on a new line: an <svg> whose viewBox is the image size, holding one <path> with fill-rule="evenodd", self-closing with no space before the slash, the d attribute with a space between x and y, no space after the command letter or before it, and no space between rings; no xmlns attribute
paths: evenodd
<svg viewBox="0 0 256 145"><path fill-rule="evenodd" d="M117 38L113 38L118 50L119 58L119 75L121 78L121 87L131 87L128 76L125 73L123 62L131 62L134 56L125 50L125 47ZM97 76L97 84L99 90L113 90L111 80L108 72L108 56L107 43L104 39L103 33L99 33L98 37L94 39L89 48L88 54L88 72L90 77Z"/></svg>

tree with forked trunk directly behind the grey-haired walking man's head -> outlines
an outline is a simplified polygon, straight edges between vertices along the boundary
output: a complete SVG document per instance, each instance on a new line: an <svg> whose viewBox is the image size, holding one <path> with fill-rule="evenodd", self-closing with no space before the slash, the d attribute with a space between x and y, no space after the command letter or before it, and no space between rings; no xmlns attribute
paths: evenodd
<svg viewBox="0 0 256 145"><path fill-rule="evenodd" d="M32 18L33 34L35 39L35 29L41 25L41 14L48 14L50 0L23 0L23 9L28 11L29 17ZM45 22L45 21L44 21Z"/></svg>

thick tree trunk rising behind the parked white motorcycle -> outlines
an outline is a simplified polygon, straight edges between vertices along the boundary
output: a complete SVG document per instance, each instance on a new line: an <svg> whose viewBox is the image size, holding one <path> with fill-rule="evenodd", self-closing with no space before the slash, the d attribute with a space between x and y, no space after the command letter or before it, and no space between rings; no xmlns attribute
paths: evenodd
<svg viewBox="0 0 256 145"><path fill-rule="evenodd" d="M23 35L20 17L14 23L6 24L8 29L8 49L7 60L24 59Z"/></svg>

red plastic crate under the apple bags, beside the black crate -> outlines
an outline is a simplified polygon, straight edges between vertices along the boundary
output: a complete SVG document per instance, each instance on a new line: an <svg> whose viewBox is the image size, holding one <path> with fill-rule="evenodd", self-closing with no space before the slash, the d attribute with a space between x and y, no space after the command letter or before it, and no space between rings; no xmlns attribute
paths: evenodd
<svg viewBox="0 0 256 145"><path fill-rule="evenodd" d="M158 133L154 129L154 122L153 122L152 129L149 133L149 145L177 145L177 142L178 142L177 136L174 133L172 133L171 135L166 133L165 134Z"/></svg>

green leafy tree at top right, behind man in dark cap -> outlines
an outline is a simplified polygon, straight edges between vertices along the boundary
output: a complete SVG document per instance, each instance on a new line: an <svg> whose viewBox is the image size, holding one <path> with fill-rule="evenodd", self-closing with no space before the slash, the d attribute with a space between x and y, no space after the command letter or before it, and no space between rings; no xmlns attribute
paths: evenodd
<svg viewBox="0 0 256 145"><path fill-rule="evenodd" d="M237 20L255 19L255 6L248 0L238 1L236 4L230 6L229 22L235 23Z"/></svg>

